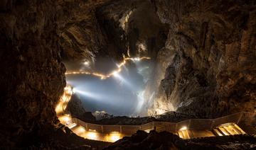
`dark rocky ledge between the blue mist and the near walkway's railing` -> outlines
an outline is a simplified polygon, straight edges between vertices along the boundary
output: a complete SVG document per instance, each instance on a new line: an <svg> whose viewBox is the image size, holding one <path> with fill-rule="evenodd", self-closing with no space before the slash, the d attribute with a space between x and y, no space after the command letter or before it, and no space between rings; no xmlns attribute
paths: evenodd
<svg viewBox="0 0 256 150"><path fill-rule="evenodd" d="M180 122L182 120L197 118L194 115L176 112L148 117L113 116L107 113L94 113L92 115L91 112L87 112L85 108L83 108L82 101L76 94L70 99L65 113L68 113L82 121L100 125L142 125L152 121Z"/></svg>

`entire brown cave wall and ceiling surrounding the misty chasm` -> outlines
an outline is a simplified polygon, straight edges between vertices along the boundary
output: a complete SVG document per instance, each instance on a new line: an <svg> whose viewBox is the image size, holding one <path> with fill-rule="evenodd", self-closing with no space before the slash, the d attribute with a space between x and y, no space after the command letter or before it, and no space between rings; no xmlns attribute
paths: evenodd
<svg viewBox="0 0 256 150"><path fill-rule="evenodd" d="M63 59L156 59L148 86L150 93L158 88L151 114L254 111L255 3L0 0L1 143L33 144L58 126Z"/></svg>

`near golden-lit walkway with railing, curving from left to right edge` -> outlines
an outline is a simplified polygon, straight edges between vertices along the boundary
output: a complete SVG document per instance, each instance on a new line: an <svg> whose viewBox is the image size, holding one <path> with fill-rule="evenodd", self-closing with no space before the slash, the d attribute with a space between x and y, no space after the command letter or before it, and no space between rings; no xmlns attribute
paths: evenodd
<svg viewBox="0 0 256 150"><path fill-rule="evenodd" d="M61 96L55 111L63 125L69 127L75 134L85 139L115 142L124 136L131 136L138 129L149 132L154 128L158 132L167 131L177 134L183 139L233 134L256 134L256 128L249 125L255 121L256 113L248 112L236 113L216 119L191 119L182 122L149 122L144 125L91 124L65 113L65 108L72 95L72 87L65 87L63 96Z"/></svg>

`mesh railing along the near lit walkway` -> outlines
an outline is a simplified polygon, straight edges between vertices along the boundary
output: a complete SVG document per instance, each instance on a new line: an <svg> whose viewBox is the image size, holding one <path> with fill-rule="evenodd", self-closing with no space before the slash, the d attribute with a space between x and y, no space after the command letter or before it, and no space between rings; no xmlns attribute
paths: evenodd
<svg viewBox="0 0 256 150"><path fill-rule="evenodd" d="M144 125L97 125L83 122L78 118L73 117L73 122L85 127L86 130L108 134L110 132L121 132L122 134L134 134L137 130L151 130L156 128L156 131L178 132L179 129L186 127L188 130L211 130L225 123L235 123L240 126L247 134L256 134L256 113L241 112L215 119L189 119L181 122L149 122Z"/></svg>

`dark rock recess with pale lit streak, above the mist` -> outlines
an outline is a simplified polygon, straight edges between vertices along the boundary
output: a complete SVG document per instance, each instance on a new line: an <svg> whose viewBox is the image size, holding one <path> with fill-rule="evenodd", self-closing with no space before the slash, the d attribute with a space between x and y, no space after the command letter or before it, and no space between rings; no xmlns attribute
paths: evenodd
<svg viewBox="0 0 256 150"><path fill-rule="evenodd" d="M168 25L161 23L150 1L111 1L96 9L96 17L106 41L101 54L156 57L164 47Z"/></svg>

